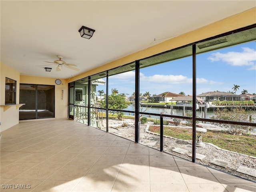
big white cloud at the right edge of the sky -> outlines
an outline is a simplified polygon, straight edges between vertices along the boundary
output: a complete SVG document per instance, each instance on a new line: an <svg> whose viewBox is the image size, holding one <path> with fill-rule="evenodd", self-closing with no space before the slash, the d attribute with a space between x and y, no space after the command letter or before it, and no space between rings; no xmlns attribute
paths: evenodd
<svg viewBox="0 0 256 192"><path fill-rule="evenodd" d="M208 59L212 62L222 60L232 66L253 66L256 61L256 50L248 47L242 49L243 52L213 53Z"/></svg>

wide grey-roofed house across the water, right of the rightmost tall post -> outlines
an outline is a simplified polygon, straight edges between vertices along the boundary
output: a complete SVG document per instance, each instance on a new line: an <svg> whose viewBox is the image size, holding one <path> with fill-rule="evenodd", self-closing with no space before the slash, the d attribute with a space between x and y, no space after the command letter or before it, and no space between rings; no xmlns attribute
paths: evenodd
<svg viewBox="0 0 256 192"><path fill-rule="evenodd" d="M210 91L197 95L206 102L212 101L240 101L242 96L222 91Z"/></svg>

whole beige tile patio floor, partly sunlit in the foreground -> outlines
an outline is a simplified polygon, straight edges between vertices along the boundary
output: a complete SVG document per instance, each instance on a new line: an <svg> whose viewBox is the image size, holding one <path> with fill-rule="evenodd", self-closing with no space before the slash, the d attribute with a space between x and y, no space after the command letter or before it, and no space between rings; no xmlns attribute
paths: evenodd
<svg viewBox="0 0 256 192"><path fill-rule="evenodd" d="M256 192L256 183L67 119L1 132L1 192Z"/></svg>

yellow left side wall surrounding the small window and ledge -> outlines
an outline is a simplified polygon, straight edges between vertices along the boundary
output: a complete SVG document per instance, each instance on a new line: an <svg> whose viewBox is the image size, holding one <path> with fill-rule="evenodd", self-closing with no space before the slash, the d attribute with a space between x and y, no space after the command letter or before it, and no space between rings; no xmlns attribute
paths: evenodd
<svg viewBox="0 0 256 192"><path fill-rule="evenodd" d="M20 98L20 73L5 64L1 64L0 68L0 132L19 123L19 109L16 106L12 106L8 109L4 108L5 104L5 78L16 80L16 104L19 103Z"/></svg>

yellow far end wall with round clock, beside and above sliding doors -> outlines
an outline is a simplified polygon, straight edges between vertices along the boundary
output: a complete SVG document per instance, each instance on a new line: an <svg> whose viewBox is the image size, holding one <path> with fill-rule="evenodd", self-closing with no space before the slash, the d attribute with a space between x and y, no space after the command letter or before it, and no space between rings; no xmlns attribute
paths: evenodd
<svg viewBox="0 0 256 192"><path fill-rule="evenodd" d="M26 84L44 84L55 85L55 118L67 118L68 114L68 83L60 79L62 84L55 84L56 78L38 77L38 76L20 76L20 83ZM62 99L62 90L63 99Z"/></svg>

